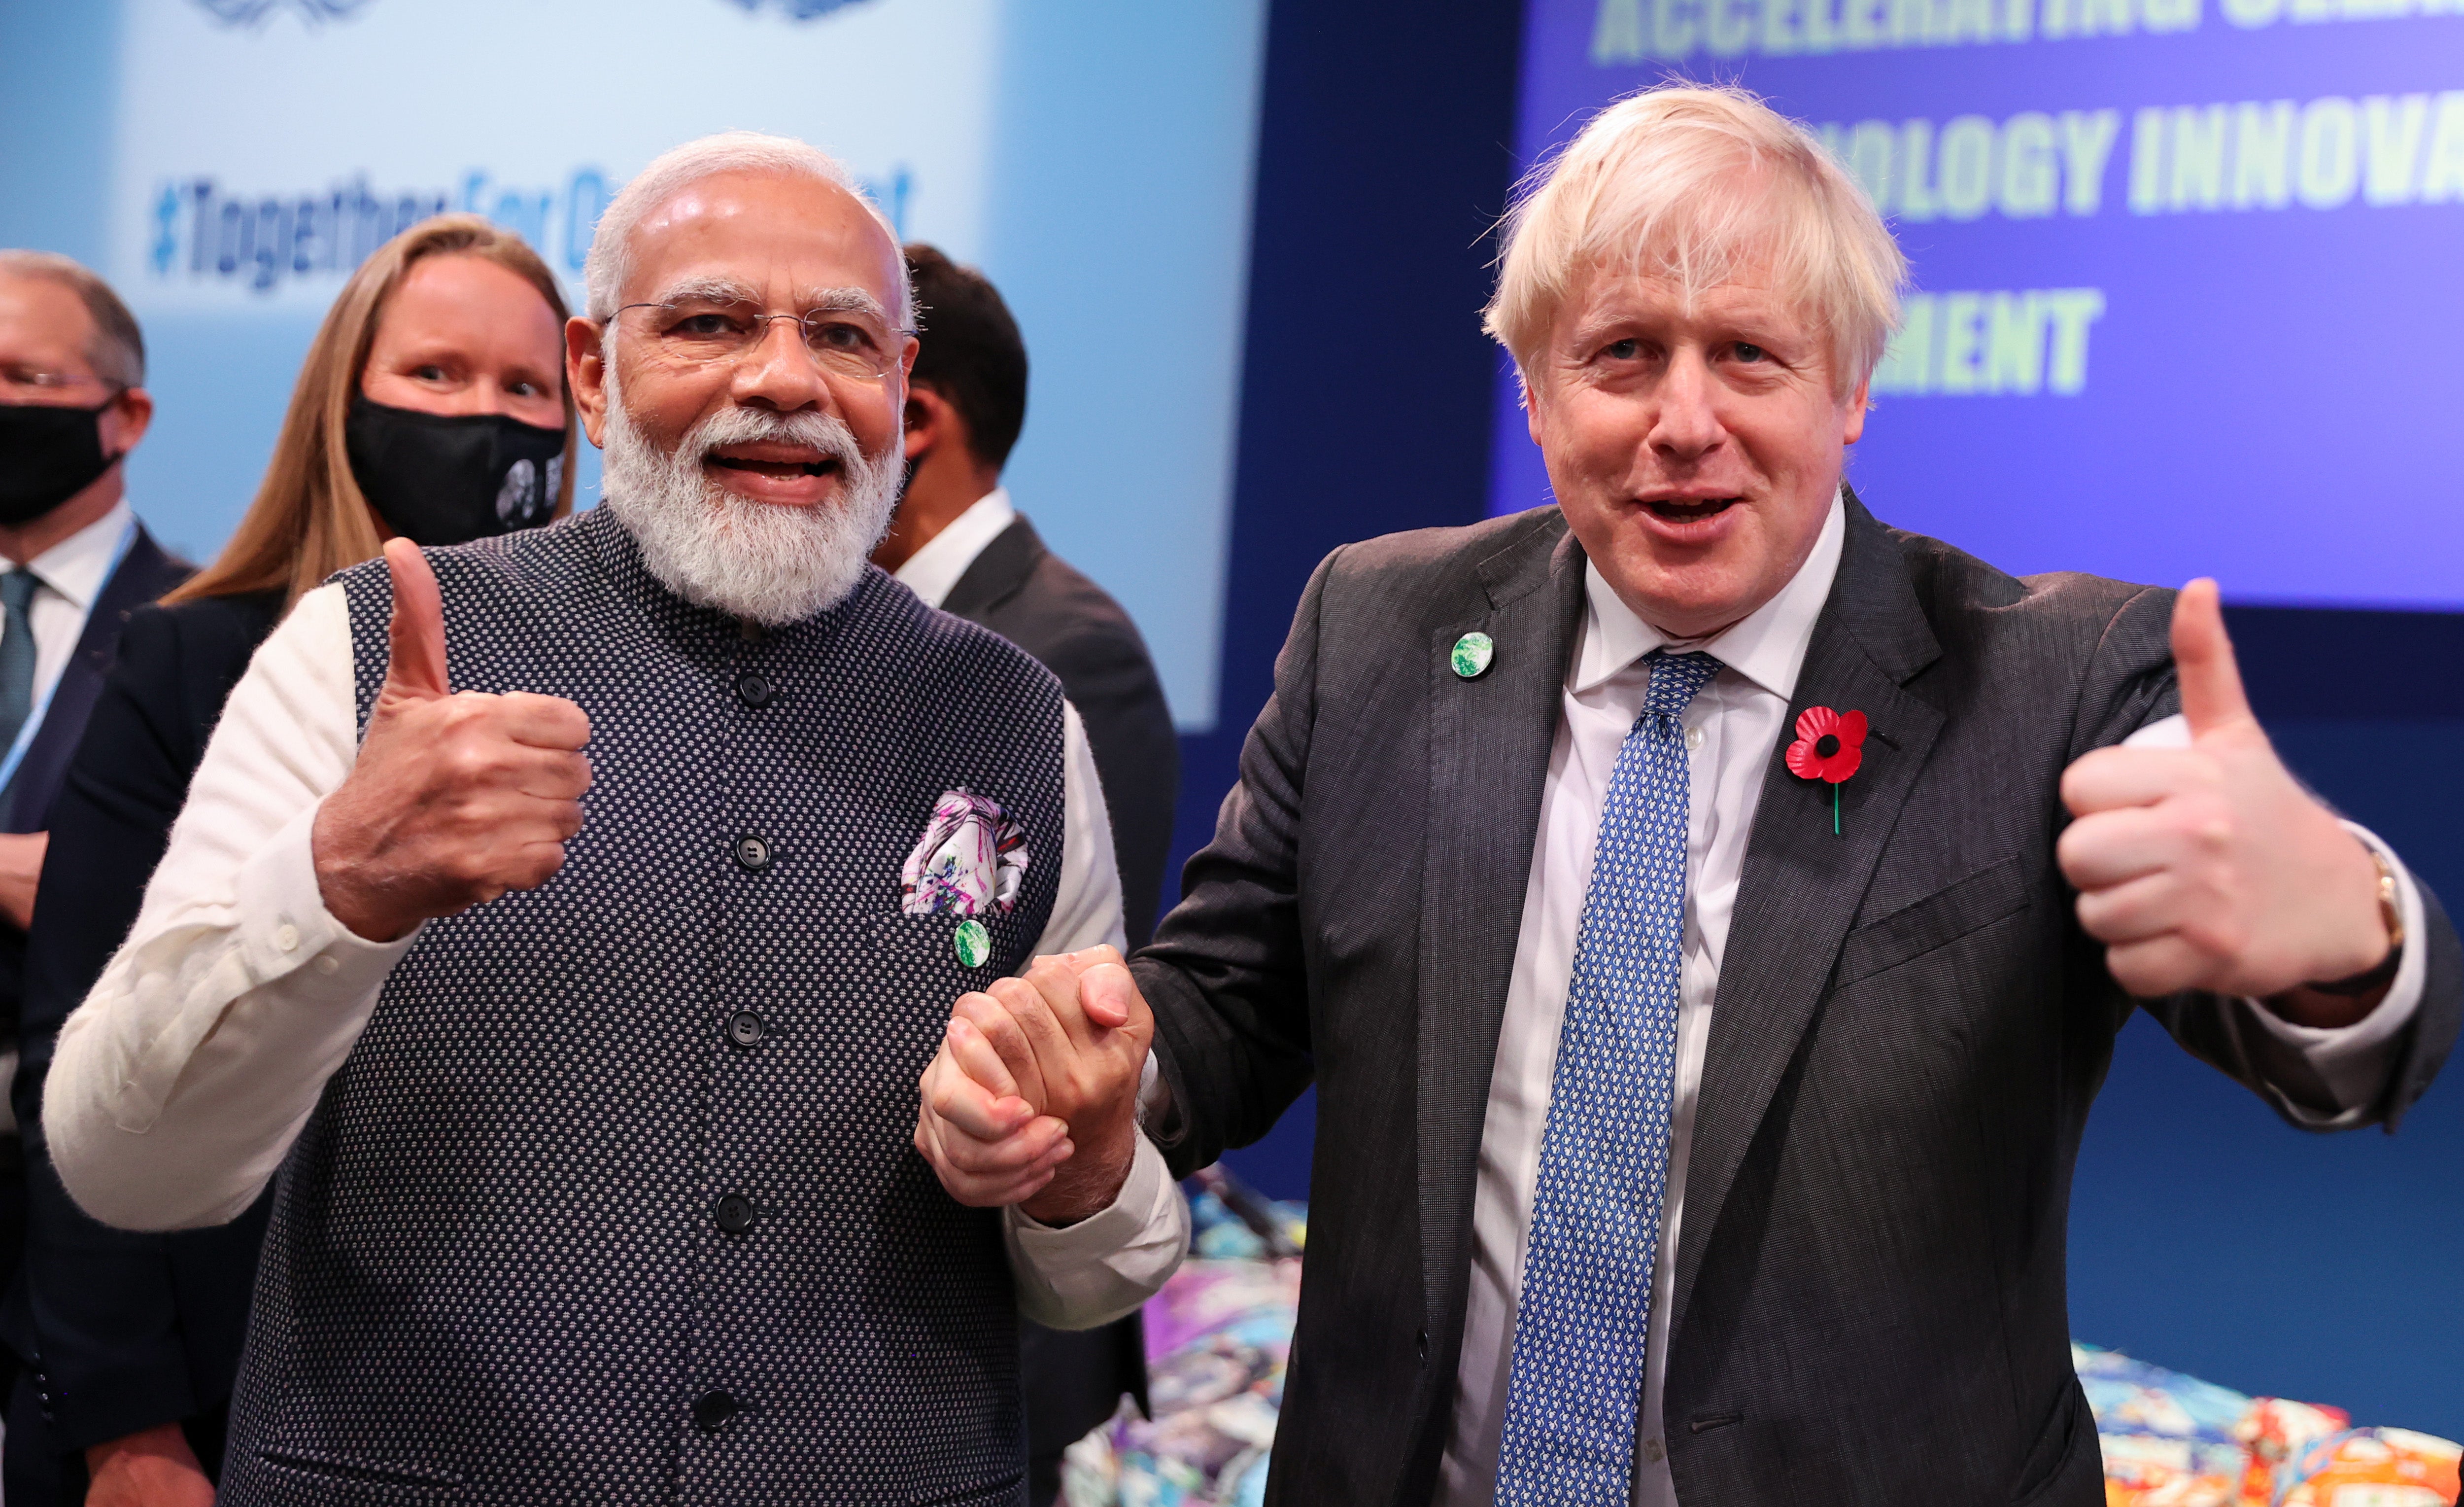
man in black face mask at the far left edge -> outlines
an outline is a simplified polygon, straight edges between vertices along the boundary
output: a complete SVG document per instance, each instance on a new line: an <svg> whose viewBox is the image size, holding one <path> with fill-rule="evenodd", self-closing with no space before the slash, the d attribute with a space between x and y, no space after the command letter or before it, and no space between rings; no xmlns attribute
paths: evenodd
<svg viewBox="0 0 2464 1507"><path fill-rule="evenodd" d="M150 419L145 340L118 294L67 257L0 249L0 1080L17 1061L44 811L128 612L190 575L128 511L121 461ZM5 1107L0 1125L5 1290L25 1179Z"/></svg>

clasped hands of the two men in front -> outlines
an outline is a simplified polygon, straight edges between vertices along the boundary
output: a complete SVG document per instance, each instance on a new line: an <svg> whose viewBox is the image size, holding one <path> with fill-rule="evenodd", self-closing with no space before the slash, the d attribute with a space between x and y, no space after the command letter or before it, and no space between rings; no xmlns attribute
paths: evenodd
<svg viewBox="0 0 2464 1507"><path fill-rule="evenodd" d="M917 1152L949 1196L1040 1223L1106 1209L1138 1149L1156 1016L1111 947L1037 957L951 1006L924 1068Z"/></svg>

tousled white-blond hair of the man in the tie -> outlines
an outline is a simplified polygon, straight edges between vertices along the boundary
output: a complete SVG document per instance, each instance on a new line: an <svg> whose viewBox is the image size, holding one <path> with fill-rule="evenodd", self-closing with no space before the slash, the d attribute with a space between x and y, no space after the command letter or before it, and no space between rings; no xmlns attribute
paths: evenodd
<svg viewBox="0 0 2464 1507"><path fill-rule="evenodd" d="M1550 326L1594 266L1663 276L1695 298L1762 269L1821 331L1838 397L1900 326L1907 257L1811 131L1735 86L1661 84L1592 116L1533 168L1503 222L1486 328L1540 370Z"/></svg>

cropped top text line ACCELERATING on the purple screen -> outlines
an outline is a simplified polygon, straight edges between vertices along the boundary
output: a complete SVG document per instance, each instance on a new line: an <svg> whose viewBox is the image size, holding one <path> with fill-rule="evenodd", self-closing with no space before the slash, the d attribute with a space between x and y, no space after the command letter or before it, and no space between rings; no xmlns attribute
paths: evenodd
<svg viewBox="0 0 2464 1507"><path fill-rule="evenodd" d="M2464 0L2218 0L2237 27L2464 15ZM1791 57L2198 30L2205 0L1599 0L1592 62Z"/></svg>

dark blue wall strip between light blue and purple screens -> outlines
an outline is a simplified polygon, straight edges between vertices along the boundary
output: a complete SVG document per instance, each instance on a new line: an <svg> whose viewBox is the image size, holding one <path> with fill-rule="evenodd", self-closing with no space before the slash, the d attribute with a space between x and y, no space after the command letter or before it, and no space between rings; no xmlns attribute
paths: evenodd
<svg viewBox="0 0 2464 1507"><path fill-rule="evenodd" d="M1488 227L1513 183L1518 2L1276 0L1266 22L1222 693L1180 740L1173 876L1215 829L1274 654L1335 545L1488 508ZM1165 900L1178 878L1165 883ZM1313 1100L1230 1157L1308 1186Z"/></svg>

